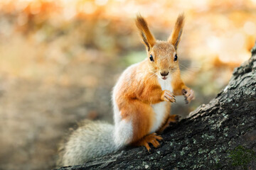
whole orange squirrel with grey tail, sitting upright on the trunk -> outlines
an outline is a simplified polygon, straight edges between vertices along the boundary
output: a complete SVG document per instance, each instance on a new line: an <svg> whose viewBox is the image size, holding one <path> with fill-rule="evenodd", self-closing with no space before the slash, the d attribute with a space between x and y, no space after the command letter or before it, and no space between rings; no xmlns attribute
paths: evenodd
<svg viewBox="0 0 256 170"><path fill-rule="evenodd" d="M60 166L82 164L126 146L159 147L160 136L169 123L175 96L189 103L194 92L181 80L177 48L181 40L184 16L179 15L167 41L156 40L145 19L137 16L136 25L146 46L147 57L124 70L114 86L112 103L114 125L85 120L60 148Z"/></svg>

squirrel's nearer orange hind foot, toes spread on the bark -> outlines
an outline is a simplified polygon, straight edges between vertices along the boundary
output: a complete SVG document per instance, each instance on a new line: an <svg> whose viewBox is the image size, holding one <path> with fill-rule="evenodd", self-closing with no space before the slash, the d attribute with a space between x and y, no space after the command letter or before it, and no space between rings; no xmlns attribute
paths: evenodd
<svg viewBox="0 0 256 170"><path fill-rule="evenodd" d="M151 133L142 137L141 140L134 142L132 145L134 146L144 146L149 151L151 148L149 147L149 143L151 143L154 147L159 147L159 141L163 140L163 138L156 133Z"/></svg>

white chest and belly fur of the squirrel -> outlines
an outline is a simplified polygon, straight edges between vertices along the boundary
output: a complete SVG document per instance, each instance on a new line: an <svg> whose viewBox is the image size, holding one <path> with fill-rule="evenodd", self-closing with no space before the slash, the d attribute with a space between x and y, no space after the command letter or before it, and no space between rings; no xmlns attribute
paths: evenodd
<svg viewBox="0 0 256 170"><path fill-rule="evenodd" d="M161 85L162 90L169 90L173 92L172 86L171 86L171 77L169 76L168 79L158 79L159 84ZM166 101L162 101L160 103L156 103L151 105L154 109L155 113L155 120L153 121L154 124L152 125L152 128L150 132L156 132L161 126L161 123L163 122L165 113L166 113Z"/></svg>

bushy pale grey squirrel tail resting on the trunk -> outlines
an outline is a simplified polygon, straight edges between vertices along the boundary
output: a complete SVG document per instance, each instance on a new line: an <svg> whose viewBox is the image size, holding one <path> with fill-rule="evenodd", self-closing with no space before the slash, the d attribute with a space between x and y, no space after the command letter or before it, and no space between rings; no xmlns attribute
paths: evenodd
<svg viewBox="0 0 256 170"><path fill-rule="evenodd" d="M114 125L85 120L60 146L57 166L82 164L117 151L113 135Z"/></svg>

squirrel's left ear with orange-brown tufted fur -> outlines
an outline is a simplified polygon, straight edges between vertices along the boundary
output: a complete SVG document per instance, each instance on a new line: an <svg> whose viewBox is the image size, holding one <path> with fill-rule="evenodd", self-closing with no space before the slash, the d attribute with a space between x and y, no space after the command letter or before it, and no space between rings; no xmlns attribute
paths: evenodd
<svg viewBox="0 0 256 170"><path fill-rule="evenodd" d="M135 22L136 22L137 28L139 29L139 34L142 37L144 45L146 45L147 50L149 51L151 47L154 46L156 40L150 32L148 25L146 23L146 20L141 15L137 15Z"/></svg>

